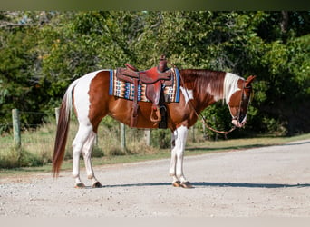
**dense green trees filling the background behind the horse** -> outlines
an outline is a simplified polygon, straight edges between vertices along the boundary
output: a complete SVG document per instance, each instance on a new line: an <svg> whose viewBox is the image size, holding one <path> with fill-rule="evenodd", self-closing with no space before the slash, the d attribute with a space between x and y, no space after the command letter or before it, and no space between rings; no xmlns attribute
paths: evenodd
<svg viewBox="0 0 310 227"><path fill-rule="evenodd" d="M4 11L0 133L9 129L13 108L49 119L83 74L124 63L150 68L160 54L179 68L257 75L247 127L235 135L310 132L309 11ZM204 114L217 129L229 129L227 106L212 105ZM35 114L21 120L43 121Z"/></svg>

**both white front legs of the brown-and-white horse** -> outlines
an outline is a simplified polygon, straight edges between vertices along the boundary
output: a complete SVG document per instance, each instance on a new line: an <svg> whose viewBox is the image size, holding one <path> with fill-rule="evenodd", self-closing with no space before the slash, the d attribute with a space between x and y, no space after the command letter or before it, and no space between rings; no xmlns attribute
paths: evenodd
<svg viewBox="0 0 310 227"><path fill-rule="evenodd" d="M189 129L186 126L180 126L173 132L172 135L170 176L173 178L172 185L175 187L192 187L183 173L183 157L188 131Z"/></svg>

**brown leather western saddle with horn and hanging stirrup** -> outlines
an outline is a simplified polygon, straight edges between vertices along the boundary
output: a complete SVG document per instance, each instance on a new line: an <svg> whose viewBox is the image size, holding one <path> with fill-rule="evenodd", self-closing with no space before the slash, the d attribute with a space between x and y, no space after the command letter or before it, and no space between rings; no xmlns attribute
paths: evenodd
<svg viewBox="0 0 310 227"><path fill-rule="evenodd" d="M172 85L173 72L167 67L165 55L160 56L160 63L145 71L139 71L131 64L125 64L126 68L118 68L116 76L119 80L134 84L134 97L132 102L131 127L135 127L138 121L138 85L146 84L145 95L152 103L150 121L159 123L160 128L167 128L167 113L164 107L163 87Z"/></svg>

